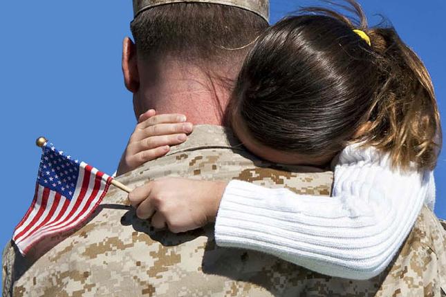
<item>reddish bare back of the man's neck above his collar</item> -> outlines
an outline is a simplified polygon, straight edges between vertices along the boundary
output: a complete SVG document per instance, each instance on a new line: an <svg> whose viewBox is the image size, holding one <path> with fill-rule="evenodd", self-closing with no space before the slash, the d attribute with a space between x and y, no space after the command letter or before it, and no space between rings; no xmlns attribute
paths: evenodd
<svg viewBox="0 0 446 297"><path fill-rule="evenodd" d="M225 73L224 77L236 75L221 69L219 73ZM222 79L223 75L217 77L190 64L163 61L156 75L153 69L143 68L140 76L142 84L134 102L137 115L154 108L158 114L185 114L188 122L194 124L223 125L223 112L232 88L232 82Z"/></svg>

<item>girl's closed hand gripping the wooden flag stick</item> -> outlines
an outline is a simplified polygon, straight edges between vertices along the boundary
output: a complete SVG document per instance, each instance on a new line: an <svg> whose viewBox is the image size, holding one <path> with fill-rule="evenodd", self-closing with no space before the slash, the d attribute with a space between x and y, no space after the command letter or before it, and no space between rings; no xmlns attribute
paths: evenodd
<svg viewBox="0 0 446 297"><path fill-rule="evenodd" d="M165 178L133 190L129 200L138 218L151 218L154 228L167 226L170 231L180 233L215 221L226 185L226 182Z"/></svg>

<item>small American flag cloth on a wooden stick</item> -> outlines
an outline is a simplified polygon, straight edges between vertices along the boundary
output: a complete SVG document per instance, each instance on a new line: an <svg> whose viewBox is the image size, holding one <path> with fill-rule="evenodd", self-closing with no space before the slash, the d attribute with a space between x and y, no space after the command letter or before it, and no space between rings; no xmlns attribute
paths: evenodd
<svg viewBox="0 0 446 297"><path fill-rule="evenodd" d="M88 219L113 180L57 151L53 144L47 142L42 148L34 200L12 236L23 255L42 238L71 230Z"/></svg>

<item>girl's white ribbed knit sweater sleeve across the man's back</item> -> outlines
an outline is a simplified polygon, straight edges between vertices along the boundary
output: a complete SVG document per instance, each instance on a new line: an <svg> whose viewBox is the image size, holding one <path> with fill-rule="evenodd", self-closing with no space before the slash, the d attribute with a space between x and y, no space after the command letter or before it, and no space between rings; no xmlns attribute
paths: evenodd
<svg viewBox="0 0 446 297"><path fill-rule="evenodd" d="M348 146L335 166L333 197L228 184L216 218L221 247L270 253L329 276L369 279L389 265L422 204L435 202L431 171L392 171L389 155Z"/></svg>

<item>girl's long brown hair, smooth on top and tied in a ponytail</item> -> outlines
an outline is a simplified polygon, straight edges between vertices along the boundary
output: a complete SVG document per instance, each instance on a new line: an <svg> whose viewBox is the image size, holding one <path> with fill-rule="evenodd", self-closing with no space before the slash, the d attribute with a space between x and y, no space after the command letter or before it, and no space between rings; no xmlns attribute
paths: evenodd
<svg viewBox="0 0 446 297"><path fill-rule="evenodd" d="M346 2L358 20L306 8L264 32L237 79L230 117L283 151L334 156L361 142L400 169L434 169L442 141L429 73L393 28L368 28L360 5Z"/></svg>

